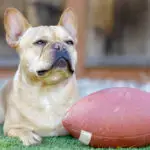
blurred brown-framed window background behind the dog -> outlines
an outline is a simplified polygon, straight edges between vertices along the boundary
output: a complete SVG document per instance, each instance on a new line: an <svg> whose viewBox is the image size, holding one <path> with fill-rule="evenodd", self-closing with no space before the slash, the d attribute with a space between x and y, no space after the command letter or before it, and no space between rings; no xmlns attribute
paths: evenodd
<svg viewBox="0 0 150 150"><path fill-rule="evenodd" d="M149 6L149 0L1 0L0 77L11 77L19 62L5 42L7 7L19 9L33 26L56 25L64 9L72 7L78 19L78 79L148 83Z"/></svg>

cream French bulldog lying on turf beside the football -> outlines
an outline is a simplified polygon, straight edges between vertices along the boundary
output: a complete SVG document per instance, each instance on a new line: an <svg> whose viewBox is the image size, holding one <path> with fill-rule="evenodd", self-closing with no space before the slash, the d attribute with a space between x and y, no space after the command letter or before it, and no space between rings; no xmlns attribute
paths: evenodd
<svg viewBox="0 0 150 150"><path fill-rule="evenodd" d="M16 8L4 13L6 41L20 62L0 94L4 134L23 145L40 144L44 136L64 136L67 110L78 100L77 19L66 9L56 26L32 27Z"/></svg>

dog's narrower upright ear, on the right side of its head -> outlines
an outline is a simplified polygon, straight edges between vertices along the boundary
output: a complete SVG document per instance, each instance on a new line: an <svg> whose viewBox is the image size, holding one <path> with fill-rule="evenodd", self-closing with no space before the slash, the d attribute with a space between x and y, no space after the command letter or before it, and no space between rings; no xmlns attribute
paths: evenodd
<svg viewBox="0 0 150 150"><path fill-rule="evenodd" d="M58 25L63 26L73 38L77 36L77 20L76 16L71 8L67 8L58 23Z"/></svg>

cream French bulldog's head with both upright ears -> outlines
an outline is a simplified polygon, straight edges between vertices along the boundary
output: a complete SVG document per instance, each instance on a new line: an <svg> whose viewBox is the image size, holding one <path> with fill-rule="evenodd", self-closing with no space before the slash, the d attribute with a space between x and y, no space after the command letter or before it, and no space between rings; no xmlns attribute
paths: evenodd
<svg viewBox="0 0 150 150"><path fill-rule="evenodd" d="M20 69L32 82L57 84L72 76L77 22L71 9L64 11L56 26L32 27L18 10L8 8L4 25L7 43L17 50Z"/></svg>

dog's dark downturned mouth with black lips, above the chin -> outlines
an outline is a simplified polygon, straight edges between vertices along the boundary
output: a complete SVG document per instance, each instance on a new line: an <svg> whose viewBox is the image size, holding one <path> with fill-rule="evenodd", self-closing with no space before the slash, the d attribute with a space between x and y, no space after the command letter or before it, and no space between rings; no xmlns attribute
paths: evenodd
<svg viewBox="0 0 150 150"><path fill-rule="evenodd" d="M44 76L46 73L48 73L48 72L50 72L51 70L54 70L54 69L60 69L60 70L62 70L62 69L65 70L66 69L71 74L74 73L74 70L72 69L71 61L64 58L64 57L60 57L56 61L54 61L54 63L51 65L50 68L39 70L39 71L37 71L37 74L38 74L38 76Z"/></svg>

